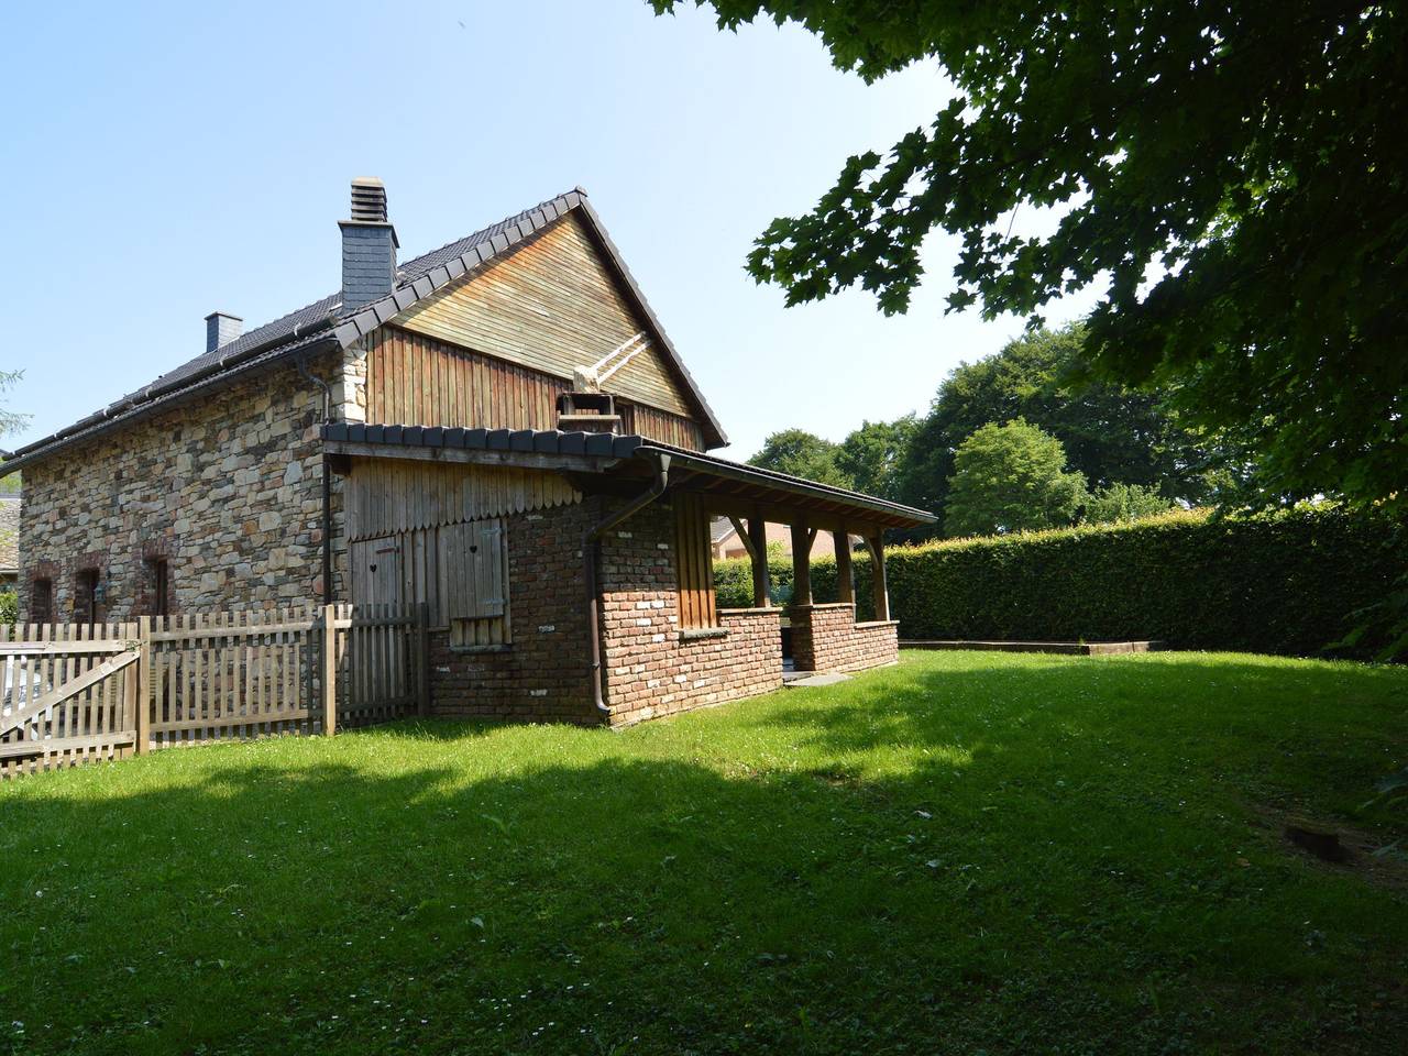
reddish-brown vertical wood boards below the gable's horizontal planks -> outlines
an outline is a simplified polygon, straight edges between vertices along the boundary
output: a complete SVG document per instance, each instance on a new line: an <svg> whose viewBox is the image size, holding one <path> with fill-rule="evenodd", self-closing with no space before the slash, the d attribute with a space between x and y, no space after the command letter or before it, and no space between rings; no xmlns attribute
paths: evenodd
<svg viewBox="0 0 1408 1056"><path fill-rule="evenodd" d="M552 429L558 425L558 396L572 387L541 370L396 327L382 327L369 342L370 422ZM704 449L704 434L690 418L645 404L624 404L621 410L625 432Z"/></svg>

